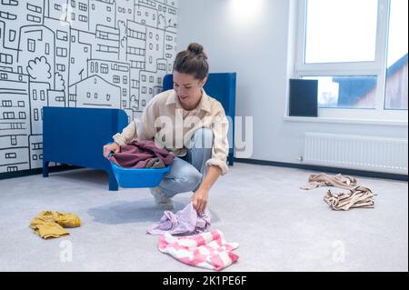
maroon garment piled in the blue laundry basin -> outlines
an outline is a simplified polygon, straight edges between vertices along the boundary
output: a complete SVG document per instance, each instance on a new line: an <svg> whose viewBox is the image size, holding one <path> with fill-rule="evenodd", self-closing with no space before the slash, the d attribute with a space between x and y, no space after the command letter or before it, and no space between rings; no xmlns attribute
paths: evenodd
<svg viewBox="0 0 409 290"><path fill-rule="evenodd" d="M172 165L175 156L166 149L156 147L154 141L132 141L122 145L119 153L113 154L109 160L124 168L145 168L147 163L159 158L165 165Z"/></svg>

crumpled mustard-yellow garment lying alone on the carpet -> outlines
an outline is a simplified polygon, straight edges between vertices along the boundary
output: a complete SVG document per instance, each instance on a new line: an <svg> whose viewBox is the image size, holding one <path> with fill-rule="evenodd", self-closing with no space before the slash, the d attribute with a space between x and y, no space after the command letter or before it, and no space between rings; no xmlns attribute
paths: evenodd
<svg viewBox="0 0 409 290"><path fill-rule="evenodd" d="M77 227L81 225L78 216L71 213L59 213L55 211L43 211L30 223L35 234L44 239L70 235L64 227Z"/></svg>

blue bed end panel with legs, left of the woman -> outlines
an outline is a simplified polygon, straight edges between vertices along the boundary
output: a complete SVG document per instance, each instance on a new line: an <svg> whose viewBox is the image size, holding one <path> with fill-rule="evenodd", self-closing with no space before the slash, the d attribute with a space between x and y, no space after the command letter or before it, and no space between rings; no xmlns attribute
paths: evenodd
<svg viewBox="0 0 409 290"><path fill-rule="evenodd" d="M95 168L109 175L109 190L118 190L103 147L128 125L125 111L52 106L43 110L43 176L48 176L50 162Z"/></svg>

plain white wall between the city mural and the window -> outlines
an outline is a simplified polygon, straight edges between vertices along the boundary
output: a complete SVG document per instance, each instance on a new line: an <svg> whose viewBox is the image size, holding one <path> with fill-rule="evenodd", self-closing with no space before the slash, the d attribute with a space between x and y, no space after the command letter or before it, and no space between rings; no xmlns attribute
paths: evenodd
<svg viewBox="0 0 409 290"><path fill-rule="evenodd" d="M232 1L263 6L254 21L234 17ZM180 0L178 50L205 46L211 72L236 72L236 115L254 117L251 159L299 163L304 132L407 138L407 125L356 125L284 121L294 62L296 14L288 0ZM290 12L292 12L290 14Z"/></svg>

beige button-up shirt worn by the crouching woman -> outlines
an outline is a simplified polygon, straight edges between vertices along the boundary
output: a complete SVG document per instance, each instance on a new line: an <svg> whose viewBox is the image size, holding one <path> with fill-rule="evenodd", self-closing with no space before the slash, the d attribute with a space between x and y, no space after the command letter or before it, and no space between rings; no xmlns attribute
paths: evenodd
<svg viewBox="0 0 409 290"><path fill-rule="evenodd" d="M185 156L186 146L198 128L205 127L214 133L212 158L206 165L216 165L222 175L228 171L226 165L229 153L227 132L229 123L223 106L203 90L202 99L194 110L186 111L179 102L175 90L165 91L146 105L142 115L127 125L121 134L114 135L119 145L133 139L152 140L155 145L167 149L175 156ZM206 146L207 147L207 146Z"/></svg>

